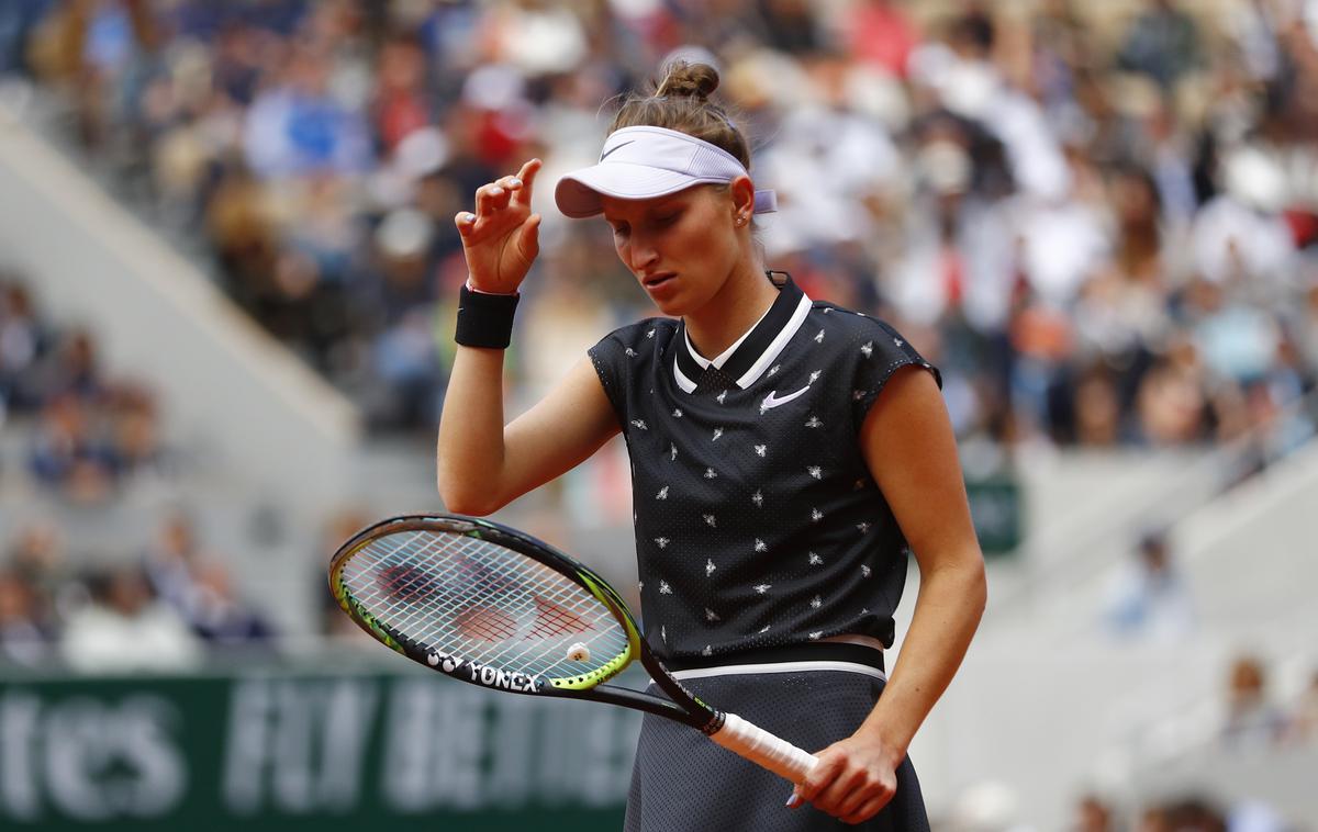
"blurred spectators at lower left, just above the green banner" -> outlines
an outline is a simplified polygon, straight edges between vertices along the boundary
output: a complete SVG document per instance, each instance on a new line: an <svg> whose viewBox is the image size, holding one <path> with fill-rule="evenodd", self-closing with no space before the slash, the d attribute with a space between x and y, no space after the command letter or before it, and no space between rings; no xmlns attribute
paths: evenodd
<svg viewBox="0 0 1318 832"><path fill-rule="evenodd" d="M216 649L270 649L273 636L182 511L136 553L71 554L61 529L40 521L0 550L0 670L186 671Z"/></svg>

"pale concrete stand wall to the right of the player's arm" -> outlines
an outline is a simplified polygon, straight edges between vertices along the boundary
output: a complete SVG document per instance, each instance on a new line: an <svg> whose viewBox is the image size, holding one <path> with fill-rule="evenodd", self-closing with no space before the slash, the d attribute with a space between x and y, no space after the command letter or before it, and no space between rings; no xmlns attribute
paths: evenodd
<svg viewBox="0 0 1318 832"><path fill-rule="evenodd" d="M912 748L931 804L994 779L1016 793L1020 820L1057 829L1091 786L1139 795L1155 779L1210 791L1230 779L1214 760L1236 758L1214 737L1232 660L1257 653L1282 702L1318 670L1318 442L1205 504L1172 540L1199 615L1177 644L1103 632L1116 563L1079 585L1058 575L1041 590L1057 603L1027 615L996 607L990 586L988 619L1006 620L982 631ZM1280 775L1298 760L1313 754L1234 762L1240 779L1223 799L1269 799L1318 825L1318 781Z"/></svg>

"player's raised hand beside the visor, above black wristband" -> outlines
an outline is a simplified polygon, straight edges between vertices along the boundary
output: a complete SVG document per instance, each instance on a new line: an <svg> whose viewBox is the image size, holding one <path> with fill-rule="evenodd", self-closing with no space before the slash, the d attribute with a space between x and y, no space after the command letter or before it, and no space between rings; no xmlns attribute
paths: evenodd
<svg viewBox="0 0 1318 832"><path fill-rule="evenodd" d="M476 190L476 213L461 212L453 221L463 238L471 287L511 295L540 253L540 215L531 213L531 183L539 159L522 166L515 176Z"/></svg>

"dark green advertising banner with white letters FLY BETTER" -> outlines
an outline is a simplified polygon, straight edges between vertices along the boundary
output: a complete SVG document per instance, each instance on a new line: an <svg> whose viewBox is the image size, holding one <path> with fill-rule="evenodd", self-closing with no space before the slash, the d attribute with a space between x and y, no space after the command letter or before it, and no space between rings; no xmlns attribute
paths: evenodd
<svg viewBox="0 0 1318 832"><path fill-rule="evenodd" d="M0 681L0 828L617 829L639 724L432 674Z"/></svg>

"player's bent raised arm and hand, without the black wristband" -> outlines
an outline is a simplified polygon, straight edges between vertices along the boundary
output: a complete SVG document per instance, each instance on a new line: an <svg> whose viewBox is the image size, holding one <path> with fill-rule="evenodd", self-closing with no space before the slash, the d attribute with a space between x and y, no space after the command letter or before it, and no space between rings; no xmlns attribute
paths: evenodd
<svg viewBox="0 0 1318 832"><path fill-rule="evenodd" d="M539 254L531 186L539 159L476 191L453 221L473 290L511 294ZM503 424L503 350L459 346L439 419L439 495L449 511L488 515L598 450L618 432L594 367L583 358L548 396Z"/></svg>

